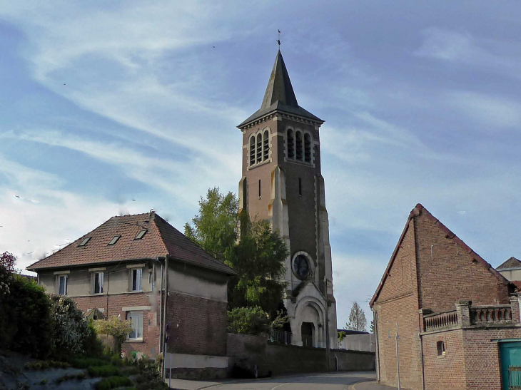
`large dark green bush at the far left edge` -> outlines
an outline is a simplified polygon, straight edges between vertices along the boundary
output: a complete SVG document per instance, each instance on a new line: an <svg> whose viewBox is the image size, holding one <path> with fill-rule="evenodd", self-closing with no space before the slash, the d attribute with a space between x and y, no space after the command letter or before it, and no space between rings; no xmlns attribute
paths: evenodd
<svg viewBox="0 0 521 390"><path fill-rule="evenodd" d="M46 358L53 347L51 302L42 287L0 266L0 345Z"/></svg>

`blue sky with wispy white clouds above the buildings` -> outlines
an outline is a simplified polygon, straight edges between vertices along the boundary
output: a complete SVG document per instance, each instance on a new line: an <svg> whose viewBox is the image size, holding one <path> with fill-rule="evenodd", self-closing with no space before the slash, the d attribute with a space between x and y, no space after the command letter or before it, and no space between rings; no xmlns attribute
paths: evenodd
<svg viewBox="0 0 521 390"><path fill-rule="evenodd" d="M237 192L277 29L320 128L338 327L420 202L521 258L519 1L0 0L0 252L27 267L113 215L174 227Z"/></svg>

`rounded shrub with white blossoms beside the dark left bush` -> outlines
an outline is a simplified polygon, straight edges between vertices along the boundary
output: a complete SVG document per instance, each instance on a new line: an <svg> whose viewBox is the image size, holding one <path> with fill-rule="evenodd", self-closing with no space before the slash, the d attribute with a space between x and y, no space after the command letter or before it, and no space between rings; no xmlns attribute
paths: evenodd
<svg viewBox="0 0 521 390"><path fill-rule="evenodd" d="M61 352L83 353L84 342L91 336L83 312L69 297L51 295L51 302L54 348Z"/></svg>

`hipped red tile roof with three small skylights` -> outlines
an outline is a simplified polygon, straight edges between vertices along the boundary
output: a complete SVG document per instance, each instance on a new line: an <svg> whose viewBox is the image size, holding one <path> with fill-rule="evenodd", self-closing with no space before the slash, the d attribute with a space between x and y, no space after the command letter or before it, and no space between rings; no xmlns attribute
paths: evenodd
<svg viewBox="0 0 521 390"><path fill-rule="evenodd" d="M141 240L134 240L141 230L147 230ZM114 245L108 242L121 235ZM91 237L85 246L79 244ZM155 259L169 255L172 260L186 262L225 274L236 274L230 267L216 260L155 212L112 217L96 229L72 242L58 252L35 262L27 270L91 265L126 260Z"/></svg>

